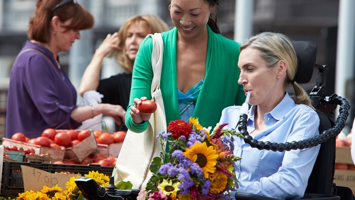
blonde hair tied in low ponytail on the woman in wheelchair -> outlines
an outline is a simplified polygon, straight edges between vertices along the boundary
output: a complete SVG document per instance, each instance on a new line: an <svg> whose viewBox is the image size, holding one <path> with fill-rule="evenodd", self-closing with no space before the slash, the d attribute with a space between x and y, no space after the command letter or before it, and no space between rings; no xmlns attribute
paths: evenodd
<svg viewBox="0 0 355 200"><path fill-rule="evenodd" d="M297 71L297 55L290 38L277 32L261 32L243 42L240 51L246 47L256 48L261 51L268 68L272 68L279 60L287 63L287 78L284 87L293 82ZM307 92L295 81L293 83L295 95L292 96L296 104L311 106Z"/></svg>

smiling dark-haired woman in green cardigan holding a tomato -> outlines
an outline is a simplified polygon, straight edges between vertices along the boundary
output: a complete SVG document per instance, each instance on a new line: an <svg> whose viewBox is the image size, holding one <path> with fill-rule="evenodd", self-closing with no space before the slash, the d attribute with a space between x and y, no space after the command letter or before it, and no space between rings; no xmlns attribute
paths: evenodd
<svg viewBox="0 0 355 200"><path fill-rule="evenodd" d="M219 0L171 0L174 28L163 32L163 66L160 81L166 123L190 116L202 126L219 122L222 110L241 105L245 94L237 83L239 43L221 35L215 9ZM125 117L127 127L142 132L150 114L136 108L151 99L152 38L139 46L134 62L132 87Z"/></svg>

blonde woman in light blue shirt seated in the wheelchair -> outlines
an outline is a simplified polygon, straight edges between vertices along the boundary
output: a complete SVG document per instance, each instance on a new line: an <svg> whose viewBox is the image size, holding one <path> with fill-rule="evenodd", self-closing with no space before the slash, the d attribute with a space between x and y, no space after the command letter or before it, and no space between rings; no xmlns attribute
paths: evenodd
<svg viewBox="0 0 355 200"><path fill-rule="evenodd" d="M240 47L238 83L250 92L247 131L258 141L286 143L318 135L319 118L307 93L294 81L297 56L290 39L263 32ZM292 84L295 96L286 88ZM235 128L240 106L227 107L220 123ZM307 187L319 145L303 150L274 152L259 150L234 138L238 192L277 198L301 198Z"/></svg>

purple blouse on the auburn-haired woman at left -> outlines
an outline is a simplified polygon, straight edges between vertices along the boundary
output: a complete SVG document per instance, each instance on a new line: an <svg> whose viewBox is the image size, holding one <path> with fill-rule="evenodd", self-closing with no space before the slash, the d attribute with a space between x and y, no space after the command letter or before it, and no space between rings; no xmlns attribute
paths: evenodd
<svg viewBox="0 0 355 200"><path fill-rule="evenodd" d="M77 128L70 117L77 108L77 92L64 70L58 69L51 51L27 41L11 73L6 111L6 138L22 132L28 138L41 136L46 128Z"/></svg>

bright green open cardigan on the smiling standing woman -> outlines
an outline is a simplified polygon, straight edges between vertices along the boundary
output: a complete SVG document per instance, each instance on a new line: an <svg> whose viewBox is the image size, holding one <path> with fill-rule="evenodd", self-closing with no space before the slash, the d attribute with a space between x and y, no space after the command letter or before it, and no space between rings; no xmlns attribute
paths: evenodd
<svg viewBox="0 0 355 200"><path fill-rule="evenodd" d="M242 85L238 84L239 43L216 34L208 25L207 29L206 75L193 117L198 117L203 127L214 127L221 118L222 110L228 106L241 105L245 101L245 94ZM180 119L176 86L177 29L173 28L162 32L161 35L164 43L164 55L160 88L163 95L166 124L168 124L171 120ZM146 96L151 99L152 49L152 38L146 38L140 44L134 62L129 105L125 116L127 127L134 132L142 132L148 126L148 122L134 123L129 113L135 97Z"/></svg>

